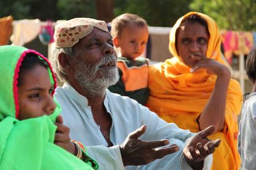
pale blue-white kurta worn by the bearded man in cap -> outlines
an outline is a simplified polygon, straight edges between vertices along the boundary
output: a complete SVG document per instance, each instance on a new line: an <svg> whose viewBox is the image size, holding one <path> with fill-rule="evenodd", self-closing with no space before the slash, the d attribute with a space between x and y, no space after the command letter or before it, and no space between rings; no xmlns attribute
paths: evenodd
<svg viewBox="0 0 256 170"><path fill-rule="evenodd" d="M141 140L169 139L170 145L177 144L180 150L145 166L126 166L125 169L191 169L182 156L182 148L194 134L179 129L174 123L166 123L135 100L113 94L106 89L104 105L112 118L110 140L114 145L108 148L100 127L93 119L88 100L83 95L65 83L63 87L56 89L54 97L62 107L64 124L70 128L70 138L87 146L89 155L98 162L100 169L124 169L119 145L130 132L143 124L147 126L147 131L140 137ZM210 169L211 163L212 156L208 156L203 169Z"/></svg>

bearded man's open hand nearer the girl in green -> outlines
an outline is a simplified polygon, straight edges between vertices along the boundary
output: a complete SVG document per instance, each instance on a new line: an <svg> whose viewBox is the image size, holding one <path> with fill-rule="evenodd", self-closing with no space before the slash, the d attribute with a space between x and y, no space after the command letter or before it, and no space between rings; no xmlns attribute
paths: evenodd
<svg viewBox="0 0 256 170"><path fill-rule="evenodd" d="M139 140L138 138L142 136L145 131L146 126L143 125L134 132L131 132L126 140L124 140L124 143L120 145L124 166L148 164L151 161L163 158L179 150L179 147L175 144L169 147L158 148L168 145L169 140Z"/></svg>

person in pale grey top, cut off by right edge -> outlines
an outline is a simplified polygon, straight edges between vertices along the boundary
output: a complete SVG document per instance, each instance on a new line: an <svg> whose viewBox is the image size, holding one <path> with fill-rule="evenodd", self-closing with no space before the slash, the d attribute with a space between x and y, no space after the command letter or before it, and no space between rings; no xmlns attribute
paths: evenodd
<svg viewBox="0 0 256 170"><path fill-rule="evenodd" d="M256 169L256 47L248 54L245 70L253 87L251 94L244 95L245 102L239 124L240 169Z"/></svg>

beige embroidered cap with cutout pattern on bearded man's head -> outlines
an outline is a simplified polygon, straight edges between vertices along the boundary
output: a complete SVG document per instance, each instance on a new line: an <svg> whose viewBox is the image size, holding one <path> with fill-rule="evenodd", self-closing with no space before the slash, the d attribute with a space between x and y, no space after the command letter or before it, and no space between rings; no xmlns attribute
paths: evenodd
<svg viewBox="0 0 256 170"><path fill-rule="evenodd" d="M79 39L90 34L94 27L109 33L106 22L92 18L74 18L59 23L54 31L55 46L72 47L79 42Z"/></svg>

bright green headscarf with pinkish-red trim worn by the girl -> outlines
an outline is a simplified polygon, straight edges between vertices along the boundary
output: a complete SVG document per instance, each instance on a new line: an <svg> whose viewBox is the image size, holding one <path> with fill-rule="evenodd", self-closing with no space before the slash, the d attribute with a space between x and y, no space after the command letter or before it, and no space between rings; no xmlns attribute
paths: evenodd
<svg viewBox="0 0 256 170"><path fill-rule="evenodd" d="M57 107L49 116L17 119L17 78L23 57L28 53L45 60L54 89L57 86L51 65L43 55L24 47L0 46L0 169L93 169L53 144L57 128L54 122L61 111L56 100Z"/></svg>

